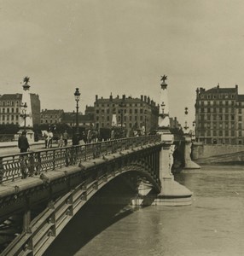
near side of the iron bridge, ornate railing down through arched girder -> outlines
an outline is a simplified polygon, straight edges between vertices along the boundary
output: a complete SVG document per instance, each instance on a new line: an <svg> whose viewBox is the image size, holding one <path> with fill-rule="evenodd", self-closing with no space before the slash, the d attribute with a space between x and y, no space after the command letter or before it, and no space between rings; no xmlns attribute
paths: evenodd
<svg viewBox="0 0 244 256"><path fill-rule="evenodd" d="M132 137L0 157L1 222L23 214L23 232L1 255L42 255L85 202L114 177L141 176L160 193L159 136ZM129 172L137 175L130 177ZM37 204L48 207L32 217Z"/></svg>

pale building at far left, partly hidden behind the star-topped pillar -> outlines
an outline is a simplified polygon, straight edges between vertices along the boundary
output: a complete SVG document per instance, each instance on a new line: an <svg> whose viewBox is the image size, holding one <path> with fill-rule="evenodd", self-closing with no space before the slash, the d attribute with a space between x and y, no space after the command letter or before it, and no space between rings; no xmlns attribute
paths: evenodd
<svg viewBox="0 0 244 256"><path fill-rule="evenodd" d="M0 96L0 124L19 125L21 119L22 94L3 94ZM37 94L31 94L33 125L40 123L40 100Z"/></svg>

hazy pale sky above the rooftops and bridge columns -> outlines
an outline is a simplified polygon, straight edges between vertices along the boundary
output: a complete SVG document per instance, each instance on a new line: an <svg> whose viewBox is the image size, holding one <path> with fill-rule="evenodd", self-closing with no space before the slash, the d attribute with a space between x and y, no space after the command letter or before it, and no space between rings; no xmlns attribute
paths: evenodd
<svg viewBox="0 0 244 256"><path fill-rule="evenodd" d="M195 119L195 90L244 94L242 0L0 0L0 94L30 77L41 108L149 96L166 74L170 115Z"/></svg>

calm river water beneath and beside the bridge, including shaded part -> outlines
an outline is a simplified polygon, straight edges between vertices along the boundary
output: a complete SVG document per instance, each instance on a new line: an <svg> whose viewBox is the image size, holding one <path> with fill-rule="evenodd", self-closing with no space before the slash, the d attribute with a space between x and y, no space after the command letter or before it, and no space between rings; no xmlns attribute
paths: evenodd
<svg viewBox="0 0 244 256"><path fill-rule="evenodd" d="M175 180L194 193L191 206L87 204L45 255L244 255L244 166L203 166Z"/></svg>

